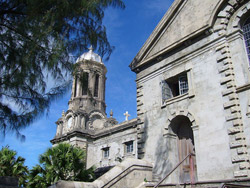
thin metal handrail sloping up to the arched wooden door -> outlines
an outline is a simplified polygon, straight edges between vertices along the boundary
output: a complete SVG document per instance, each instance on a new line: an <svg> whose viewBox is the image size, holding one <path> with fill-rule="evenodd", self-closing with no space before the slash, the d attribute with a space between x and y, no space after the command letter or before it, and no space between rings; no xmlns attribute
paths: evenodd
<svg viewBox="0 0 250 188"><path fill-rule="evenodd" d="M163 177L155 186L157 188L168 176L170 176L188 157L189 157L189 165L190 165L190 180L191 187L194 184L194 163L192 156L195 156L193 153L189 153L181 162L179 162L165 177Z"/></svg>

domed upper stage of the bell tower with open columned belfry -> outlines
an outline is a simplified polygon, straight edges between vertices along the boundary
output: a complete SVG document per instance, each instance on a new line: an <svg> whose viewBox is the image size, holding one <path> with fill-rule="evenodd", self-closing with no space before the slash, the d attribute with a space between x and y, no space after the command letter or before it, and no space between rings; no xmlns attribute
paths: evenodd
<svg viewBox="0 0 250 188"><path fill-rule="evenodd" d="M77 60L77 70L74 74L69 109L84 110L90 113L99 110L105 114L105 82L107 69L101 57L89 51L82 54Z"/></svg>

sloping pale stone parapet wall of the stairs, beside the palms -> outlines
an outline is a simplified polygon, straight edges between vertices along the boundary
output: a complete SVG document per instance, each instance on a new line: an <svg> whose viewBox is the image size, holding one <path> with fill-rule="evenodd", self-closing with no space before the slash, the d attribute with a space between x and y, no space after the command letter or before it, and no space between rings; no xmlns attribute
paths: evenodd
<svg viewBox="0 0 250 188"><path fill-rule="evenodd" d="M152 181L152 164L138 159L125 159L94 182L59 181L50 188L135 188L143 181Z"/></svg>

